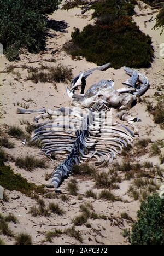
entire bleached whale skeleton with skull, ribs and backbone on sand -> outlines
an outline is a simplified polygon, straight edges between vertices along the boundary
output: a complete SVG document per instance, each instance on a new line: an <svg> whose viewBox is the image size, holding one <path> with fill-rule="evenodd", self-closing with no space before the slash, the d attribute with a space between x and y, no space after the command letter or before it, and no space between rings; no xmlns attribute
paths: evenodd
<svg viewBox="0 0 164 256"><path fill-rule="evenodd" d="M32 141L40 141L42 151L49 159L65 157L52 172L51 184L47 187L55 189L63 179L72 174L74 165L79 165L92 159L92 164L102 167L110 164L122 149L132 145L136 128L112 122L112 108L130 108L136 96L144 94L149 88L149 81L145 75L136 70L124 67L130 76L123 84L127 87L115 90L112 80L101 80L92 85L86 94L76 94L75 91L83 86L86 78L95 70L106 70L110 64L81 72L67 88L68 96L76 107L62 107L51 110L22 110L18 113L39 113L34 118L36 130L31 136ZM133 123L140 121L132 117L125 110L119 112L118 117ZM46 119L39 123L40 119Z"/></svg>

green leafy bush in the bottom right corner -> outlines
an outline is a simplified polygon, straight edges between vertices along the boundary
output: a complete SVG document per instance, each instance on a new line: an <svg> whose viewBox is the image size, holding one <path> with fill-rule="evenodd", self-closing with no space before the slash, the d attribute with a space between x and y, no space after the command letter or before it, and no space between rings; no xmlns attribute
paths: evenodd
<svg viewBox="0 0 164 256"><path fill-rule="evenodd" d="M164 245L164 199L149 196L142 202L130 236L132 245Z"/></svg>

